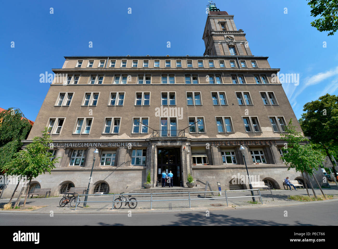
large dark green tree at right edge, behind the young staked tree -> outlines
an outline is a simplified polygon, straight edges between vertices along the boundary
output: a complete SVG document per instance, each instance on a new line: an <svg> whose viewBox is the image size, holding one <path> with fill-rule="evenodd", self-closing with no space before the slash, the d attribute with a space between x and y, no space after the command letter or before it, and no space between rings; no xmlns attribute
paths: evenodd
<svg viewBox="0 0 338 249"><path fill-rule="evenodd" d="M325 94L318 100L304 105L306 113L298 120L305 136L311 137L316 149L321 148L326 155L338 156L338 96ZM336 174L335 168L333 168Z"/></svg>

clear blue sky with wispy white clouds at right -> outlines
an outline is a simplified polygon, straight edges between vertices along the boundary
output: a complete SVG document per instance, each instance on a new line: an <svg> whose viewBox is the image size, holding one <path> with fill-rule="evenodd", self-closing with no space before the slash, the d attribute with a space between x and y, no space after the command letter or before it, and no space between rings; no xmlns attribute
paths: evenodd
<svg viewBox="0 0 338 249"><path fill-rule="evenodd" d="M326 93L338 94L338 32L328 37L311 27L314 18L307 1L214 2L235 15L252 54L269 56L270 66L280 68L280 73L299 73L299 85L283 84L297 118L305 103ZM63 56L202 55L207 4L204 0L5 1L0 9L0 107L20 108L34 121L49 89L39 75L61 68Z"/></svg>

